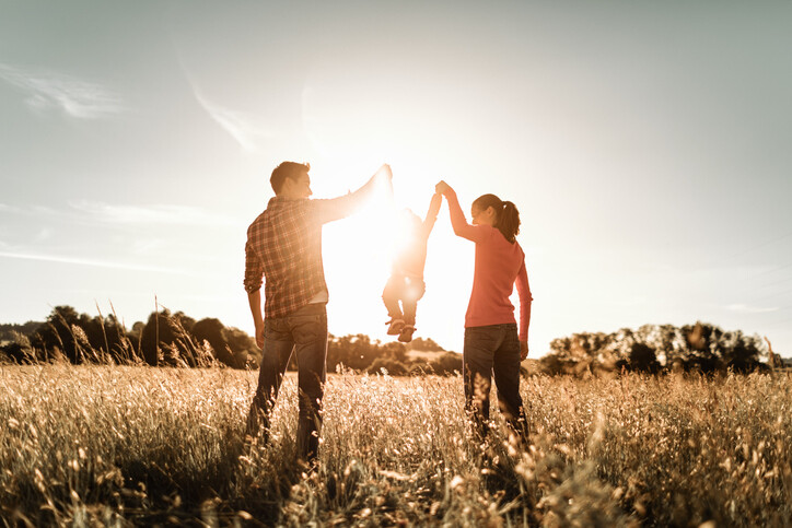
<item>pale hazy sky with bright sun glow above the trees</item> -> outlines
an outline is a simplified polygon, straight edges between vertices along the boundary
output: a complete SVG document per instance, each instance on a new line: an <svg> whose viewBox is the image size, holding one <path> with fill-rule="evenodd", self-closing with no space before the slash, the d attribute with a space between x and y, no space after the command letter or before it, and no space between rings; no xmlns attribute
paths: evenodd
<svg viewBox="0 0 792 528"><path fill-rule="evenodd" d="M0 0L0 321L253 333L272 168L331 198L388 163L393 204L324 228L336 336L393 339L385 220L444 179L520 209L532 357L697 320L792 356L790 27L784 1ZM416 337L462 351L473 258L443 206Z"/></svg>

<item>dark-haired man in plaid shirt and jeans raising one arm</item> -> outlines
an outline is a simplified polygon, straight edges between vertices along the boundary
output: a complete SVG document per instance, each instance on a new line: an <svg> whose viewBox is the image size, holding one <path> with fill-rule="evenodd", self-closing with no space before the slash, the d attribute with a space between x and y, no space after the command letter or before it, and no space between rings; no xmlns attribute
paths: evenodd
<svg viewBox="0 0 792 528"><path fill-rule="evenodd" d="M391 184L393 175L391 167L383 165L354 192L330 200L310 200L310 168L307 163L283 162L272 171L270 184L276 196L247 230L245 290L256 325L256 344L263 349L247 434L255 437L264 425L264 434L268 435L269 415L289 359L295 352L298 458L312 465L318 454L327 359L328 293L322 265L322 226L349 215L374 191L377 181Z"/></svg>

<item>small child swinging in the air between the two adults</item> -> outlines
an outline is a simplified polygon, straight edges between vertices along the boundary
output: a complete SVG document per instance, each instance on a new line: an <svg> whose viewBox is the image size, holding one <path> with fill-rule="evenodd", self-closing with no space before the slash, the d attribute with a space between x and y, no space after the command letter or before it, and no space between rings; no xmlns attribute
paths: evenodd
<svg viewBox="0 0 792 528"><path fill-rule="evenodd" d="M416 331L416 308L418 300L426 292L423 266L427 262L427 242L438 220L442 198L439 193L432 196L423 222L414 212L405 211L406 228L394 258L391 279L382 292L382 300L391 316L387 333L398 336L403 343L412 341L412 332Z"/></svg>

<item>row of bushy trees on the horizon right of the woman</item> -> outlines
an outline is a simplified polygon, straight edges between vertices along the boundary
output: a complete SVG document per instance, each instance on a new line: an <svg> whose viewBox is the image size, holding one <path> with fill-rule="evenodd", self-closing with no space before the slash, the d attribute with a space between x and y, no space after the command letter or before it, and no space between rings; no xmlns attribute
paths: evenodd
<svg viewBox="0 0 792 528"><path fill-rule="evenodd" d="M549 374L584 374L597 371L750 372L765 369L768 354L759 336L724 331L709 322L677 327L643 325L612 333L581 332L554 339L550 353L540 360ZM772 353L770 352L770 355Z"/></svg>

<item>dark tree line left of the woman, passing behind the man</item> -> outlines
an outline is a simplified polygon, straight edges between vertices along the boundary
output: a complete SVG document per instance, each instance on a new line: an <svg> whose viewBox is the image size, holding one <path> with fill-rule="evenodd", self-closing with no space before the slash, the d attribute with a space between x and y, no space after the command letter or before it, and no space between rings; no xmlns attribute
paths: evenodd
<svg viewBox="0 0 792 528"><path fill-rule="evenodd" d="M90 316L56 306L44 322L0 325L0 361L73 364L114 363L151 366L258 368L260 350L245 331L219 319L196 320L183 312L152 312L145 322L127 329L115 314ZM400 342L381 343L369 336L330 335L328 371L353 369L392 375L452 374L462 371L459 354L431 339L416 339L418 351L440 351L431 360L414 359ZM296 369L292 356L290 369Z"/></svg>

